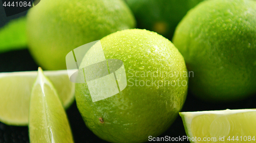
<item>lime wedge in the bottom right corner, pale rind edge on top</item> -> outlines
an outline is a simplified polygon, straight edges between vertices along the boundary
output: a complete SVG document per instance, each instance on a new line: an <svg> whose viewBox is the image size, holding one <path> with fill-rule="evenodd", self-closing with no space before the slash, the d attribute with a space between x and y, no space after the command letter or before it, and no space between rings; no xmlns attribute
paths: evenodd
<svg viewBox="0 0 256 143"><path fill-rule="evenodd" d="M188 136L184 140L256 142L256 109L180 112L180 116Z"/></svg>

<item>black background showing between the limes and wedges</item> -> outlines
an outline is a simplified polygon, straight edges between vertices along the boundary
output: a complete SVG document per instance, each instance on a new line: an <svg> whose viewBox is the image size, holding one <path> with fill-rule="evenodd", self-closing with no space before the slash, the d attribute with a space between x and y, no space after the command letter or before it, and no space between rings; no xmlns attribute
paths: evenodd
<svg viewBox="0 0 256 143"><path fill-rule="evenodd" d="M26 15L26 11L6 17L2 1L0 1L0 28L11 19ZM1 39L0 39L1 42ZM37 70L38 65L35 64L28 50L10 51L0 53L0 72L13 71L32 71ZM203 102L195 98L190 92L187 95L186 102L182 111L201 111L201 110L221 110L221 109L243 109L255 108L256 96L232 103L209 103ZM78 142L106 142L94 135L84 124L80 113L74 102L67 109L70 126L72 128L74 141ZM150 126L150 125L149 125ZM170 136L179 137L185 136L184 127L180 117L176 119L173 125L159 137ZM0 122L0 143L9 142L29 142L28 127L8 126ZM179 142L179 141L175 141ZM181 141L180 141L181 142ZM188 141L182 141L188 142Z"/></svg>

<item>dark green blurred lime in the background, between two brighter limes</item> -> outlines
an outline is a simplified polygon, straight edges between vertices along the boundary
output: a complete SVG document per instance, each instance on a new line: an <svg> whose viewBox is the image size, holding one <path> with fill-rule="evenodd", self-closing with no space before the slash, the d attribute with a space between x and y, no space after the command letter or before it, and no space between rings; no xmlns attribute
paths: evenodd
<svg viewBox="0 0 256 143"><path fill-rule="evenodd" d="M138 28L157 32L172 39L174 31L187 11L203 0L125 0L130 6L138 22ZM165 27L159 30L157 23ZM161 24L160 24L161 25ZM159 26L160 26L159 25Z"/></svg>

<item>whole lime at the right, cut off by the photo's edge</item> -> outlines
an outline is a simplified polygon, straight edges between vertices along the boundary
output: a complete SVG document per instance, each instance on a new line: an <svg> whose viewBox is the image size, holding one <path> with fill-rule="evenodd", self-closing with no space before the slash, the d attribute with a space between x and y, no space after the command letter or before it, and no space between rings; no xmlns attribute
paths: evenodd
<svg viewBox="0 0 256 143"><path fill-rule="evenodd" d="M184 56L192 92L232 101L256 92L256 2L202 2L180 22L174 44Z"/></svg>

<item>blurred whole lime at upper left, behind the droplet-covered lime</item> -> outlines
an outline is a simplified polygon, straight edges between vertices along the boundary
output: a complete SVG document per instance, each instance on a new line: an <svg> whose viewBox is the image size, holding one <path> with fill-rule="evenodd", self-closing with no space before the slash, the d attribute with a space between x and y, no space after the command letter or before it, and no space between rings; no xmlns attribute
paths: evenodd
<svg viewBox="0 0 256 143"><path fill-rule="evenodd" d="M42 68L67 69L66 55L83 44L135 27L122 0L41 1L28 13L29 50Z"/></svg>

